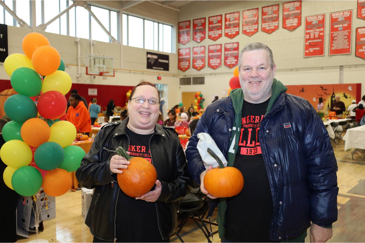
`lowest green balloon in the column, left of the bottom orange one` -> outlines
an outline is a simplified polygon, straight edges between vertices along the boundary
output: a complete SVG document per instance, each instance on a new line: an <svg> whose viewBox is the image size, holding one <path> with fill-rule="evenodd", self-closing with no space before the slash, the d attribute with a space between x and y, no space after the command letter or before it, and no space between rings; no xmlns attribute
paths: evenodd
<svg viewBox="0 0 365 243"><path fill-rule="evenodd" d="M32 196L41 189L42 174L31 166L20 167L14 172L11 185L18 194Z"/></svg>

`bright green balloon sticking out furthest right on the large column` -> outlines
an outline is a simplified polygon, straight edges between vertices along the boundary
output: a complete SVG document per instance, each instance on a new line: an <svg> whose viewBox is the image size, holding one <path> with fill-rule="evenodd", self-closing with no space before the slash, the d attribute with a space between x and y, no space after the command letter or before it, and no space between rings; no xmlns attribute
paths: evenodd
<svg viewBox="0 0 365 243"><path fill-rule="evenodd" d="M76 145L70 145L64 148L65 159L58 168L68 172L76 171L81 166L81 160L85 156L85 151Z"/></svg>

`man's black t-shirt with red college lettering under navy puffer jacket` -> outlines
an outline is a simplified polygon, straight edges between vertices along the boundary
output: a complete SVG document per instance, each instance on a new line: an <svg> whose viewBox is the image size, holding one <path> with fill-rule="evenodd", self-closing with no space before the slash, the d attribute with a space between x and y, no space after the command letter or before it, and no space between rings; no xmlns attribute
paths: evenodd
<svg viewBox="0 0 365 243"><path fill-rule="evenodd" d="M233 167L241 171L242 191L227 198L224 237L232 242L269 242L273 202L259 139L261 120L269 100L260 104L243 101L242 127Z"/></svg>

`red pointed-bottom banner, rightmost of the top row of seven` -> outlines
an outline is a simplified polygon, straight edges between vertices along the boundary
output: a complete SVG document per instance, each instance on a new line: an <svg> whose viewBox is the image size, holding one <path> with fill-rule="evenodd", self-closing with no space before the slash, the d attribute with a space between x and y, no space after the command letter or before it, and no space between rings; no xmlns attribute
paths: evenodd
<svg viewBox="0 0 365 243"><path fill-rule="evenodd" d="M301 1L283 3L283 28L292 31L301 25Z"/></svg>

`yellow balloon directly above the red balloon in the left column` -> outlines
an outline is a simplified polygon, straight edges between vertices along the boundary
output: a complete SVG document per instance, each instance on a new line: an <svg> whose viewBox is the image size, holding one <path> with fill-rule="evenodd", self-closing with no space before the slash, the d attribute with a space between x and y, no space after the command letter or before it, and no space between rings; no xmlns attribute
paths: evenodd
<svg viewBox="0 0 365 243"><path fill-rule="evenodd" d="M42 92L58 91L65 95L71 89L72 80L68 73L57 70L43 80Z"/></svg>

